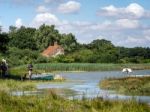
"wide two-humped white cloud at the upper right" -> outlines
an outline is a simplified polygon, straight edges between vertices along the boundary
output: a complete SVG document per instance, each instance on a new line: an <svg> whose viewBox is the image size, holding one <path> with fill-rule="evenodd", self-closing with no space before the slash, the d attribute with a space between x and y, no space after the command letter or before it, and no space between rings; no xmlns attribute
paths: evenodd
<svg viewBox="0 0 150 112"><path fill-rule="evenodd" d="M127 7L117 8L113 5L101 8L97 14L99 16L115 17L123 19L149 18L150 12L146 11L141 5L131 3Z"/></svg>

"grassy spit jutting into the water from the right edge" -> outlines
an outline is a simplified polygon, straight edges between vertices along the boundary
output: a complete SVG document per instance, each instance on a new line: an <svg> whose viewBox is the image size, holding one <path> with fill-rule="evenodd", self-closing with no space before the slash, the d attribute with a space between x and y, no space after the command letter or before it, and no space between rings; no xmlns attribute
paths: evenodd
<svg viewBox="0 0 150 112"><path fill-rule="evenodd" d="M101 81L100 87L121 94L150 96L150 77L109 78Z"/></svg>

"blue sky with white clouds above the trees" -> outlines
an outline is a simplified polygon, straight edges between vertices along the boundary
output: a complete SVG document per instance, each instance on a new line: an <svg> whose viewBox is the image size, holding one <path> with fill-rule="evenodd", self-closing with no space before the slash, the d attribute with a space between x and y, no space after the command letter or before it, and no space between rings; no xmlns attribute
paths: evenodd
<svg viewBox="0 0 150 112"><path fill-rule="evenodd" d="M55 25L80 43L106 39L116 46L150 47L150 0L0 0L0 25Z"/></svg>

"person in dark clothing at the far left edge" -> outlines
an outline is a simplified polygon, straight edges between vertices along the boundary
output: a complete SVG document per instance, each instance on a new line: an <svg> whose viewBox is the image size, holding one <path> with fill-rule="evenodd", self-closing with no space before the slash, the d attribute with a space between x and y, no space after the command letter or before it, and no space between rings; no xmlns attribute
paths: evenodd
<svg viewBox="0 0 150 112"><path fill-rule="evenodd" d="M1 71L2 71L2 77L6 77L7 76L7 70L8 70L8 64L6 63L5 59L2 59L2 63L1 63Z"/></svg>

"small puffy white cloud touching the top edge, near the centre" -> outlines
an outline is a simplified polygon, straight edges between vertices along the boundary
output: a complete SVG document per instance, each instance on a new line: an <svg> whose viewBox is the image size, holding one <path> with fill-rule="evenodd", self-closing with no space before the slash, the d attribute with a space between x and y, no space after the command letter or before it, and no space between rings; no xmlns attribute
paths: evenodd
<svg viewBox="0 0 150 112"><path fill-rule="evenodd" d="M60 4L58 7L58 11L60 13L77 13L79 12L81 4L76 1L68 1L67 3Z"/></svg>

